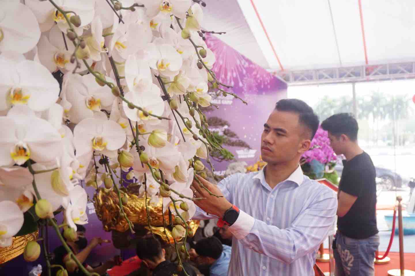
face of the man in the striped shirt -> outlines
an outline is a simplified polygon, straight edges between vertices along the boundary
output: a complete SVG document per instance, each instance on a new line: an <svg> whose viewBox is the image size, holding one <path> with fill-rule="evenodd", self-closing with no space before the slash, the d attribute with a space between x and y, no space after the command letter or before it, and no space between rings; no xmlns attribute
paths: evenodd
<svg viewBox="0 0 415 276"><path fill-rule="evenodd" d="M298 120L299 115L293 112L274 110L269 115L261 135L261 155L265 162L288 163L308 150L307 129Z"/></svg>

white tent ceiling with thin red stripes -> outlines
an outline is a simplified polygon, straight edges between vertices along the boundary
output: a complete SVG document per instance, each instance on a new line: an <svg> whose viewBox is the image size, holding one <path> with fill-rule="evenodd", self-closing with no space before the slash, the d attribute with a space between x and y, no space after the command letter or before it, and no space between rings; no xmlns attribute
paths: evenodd
<svg viewBox="0 0 415 276"><path fill-rule="evenodd" d="M415 60L413 0L206 3L204 25L227 31L220 36L223 41L272 71Z"/></svg>

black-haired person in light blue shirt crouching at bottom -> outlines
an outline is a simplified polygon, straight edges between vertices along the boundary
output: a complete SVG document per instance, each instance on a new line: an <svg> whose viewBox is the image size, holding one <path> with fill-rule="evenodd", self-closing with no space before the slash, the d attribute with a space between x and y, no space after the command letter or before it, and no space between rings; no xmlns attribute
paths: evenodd
<svg viewBox="0 0 415 276"><path fill-rule="evenodd" d="M227 276L232 247L216 237L199 240L189 254L199 265L210 265L210 276Z"/></svg>

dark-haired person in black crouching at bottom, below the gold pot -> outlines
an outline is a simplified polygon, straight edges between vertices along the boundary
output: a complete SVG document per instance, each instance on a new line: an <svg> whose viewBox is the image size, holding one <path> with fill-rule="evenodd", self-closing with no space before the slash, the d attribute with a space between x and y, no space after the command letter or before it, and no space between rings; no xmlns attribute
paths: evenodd
<svg viewBox="0 0 415 276"><path fill-rule="evenodd" d="M177 264L166 260L166 250L155 238L143 238L137 240L137 257L142 260L141 265L153 271L153 276L185 276L185 270L189 276L196 276L191 266L183 263L183 270L177 271ZM128 276L142 275L142 269L132 272Z"/></svg>

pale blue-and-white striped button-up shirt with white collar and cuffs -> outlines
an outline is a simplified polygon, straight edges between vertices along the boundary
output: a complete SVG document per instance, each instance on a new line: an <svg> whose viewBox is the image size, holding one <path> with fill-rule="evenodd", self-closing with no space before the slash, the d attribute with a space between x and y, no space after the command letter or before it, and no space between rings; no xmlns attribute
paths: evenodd
<svg viewBox="0 0 415 276"><path fill-rule="evenodd" d="M333 227L336 194L298 166L273 189L264 170L231 175L218 183L239 209L228 276L313 276L315 255ZM208 219L197 208L195 219Z"/></svg>

